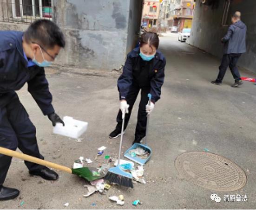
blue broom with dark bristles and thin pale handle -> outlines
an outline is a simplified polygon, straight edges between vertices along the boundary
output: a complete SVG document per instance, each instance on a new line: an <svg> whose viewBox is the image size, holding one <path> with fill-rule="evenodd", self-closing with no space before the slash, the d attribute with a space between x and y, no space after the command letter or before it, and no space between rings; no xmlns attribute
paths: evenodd
<svg viewBox="0 0 256 210"><path fill-rule="evenodd" d="M120 166L120 157L121 157L123 134L124 134L124 124L125 124L124 114L122 115L122 118L123 118L123 121L122 121L121 140L120 140L119 155L118 155L118 165L116 167L110 168L106 176L104 177L104 179L109 182L116 183L118 185L123 185L125 187L133 188L131 173L123 171Z"/></svg>

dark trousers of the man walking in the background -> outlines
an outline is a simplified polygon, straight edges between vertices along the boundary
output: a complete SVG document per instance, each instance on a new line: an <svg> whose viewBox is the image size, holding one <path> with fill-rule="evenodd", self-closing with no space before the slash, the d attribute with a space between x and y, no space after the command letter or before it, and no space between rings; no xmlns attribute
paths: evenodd
<svg viewBox="0 0 256 210"><path fill-rule="evenodd" d="M219 82L219 83L222 82L228 67L230 67L230 71L231 71L235 81L237 82L237 81L241 80L239 71L236 66L237 61L240 56L241 56L241 53L231 53L231 54L223 55L221 65L219 67L220 71L217 76L216 82Z"/></svg>

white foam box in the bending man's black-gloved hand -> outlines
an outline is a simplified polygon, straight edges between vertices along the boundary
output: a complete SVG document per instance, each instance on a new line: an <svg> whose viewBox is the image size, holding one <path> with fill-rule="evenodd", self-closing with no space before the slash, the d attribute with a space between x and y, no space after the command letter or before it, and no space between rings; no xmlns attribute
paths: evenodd
<svg viewBox="0 0 256 210"><path fill-rule="evenodd" d="M63 117L65 126L61 123L56 123L53 127L53 134L59 134L70 138L78 139L87 130L88 122L78 121L72 117Z"/></svg>

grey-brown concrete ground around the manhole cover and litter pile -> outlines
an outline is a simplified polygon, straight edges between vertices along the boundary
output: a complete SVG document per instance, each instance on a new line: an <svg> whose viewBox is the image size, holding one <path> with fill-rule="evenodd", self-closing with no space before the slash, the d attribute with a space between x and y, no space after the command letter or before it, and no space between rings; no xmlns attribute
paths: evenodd
<svg viewBox="0 0 256 210"><path fill-rule="evenodd" d="M66 202L68 209L255 209L255 84L246 82L231 88L229 70L222 86L210 84L217 76L220 60L178 42L177 34L164 34L160 48L167 58L166 78L162 99L151 115L148 144L153 156L145 165L147 184L136 184L134 189L112 186L106 195L97 192L85 198L85 181L75 175L59 172L58 181L45 181L30 177L22 161L13 159L5 185L21 193L12 201L0 202L1 209L65 209ZM118 153L119 141L108 138L118 112L118 73L90 72L50 69L47 74L56 112L89 122L82 142L53 135L50 121L41 114L26 87L19 91L37 127L39 148L46 160L71 167L79 156L94 161L99 146L107 147L105 155ZM241 75L256 77L246 71ZM137 111L134 108L123 151L133 141ZM232 192L210 191L181 178L174 166L177 156L204 148L242 167L248 178L245 187ZM104 162L103 157L99 161ZM222 199L224 195L246 194L248 201L215 203L210 200L211 193ZM125 197L124 206L108 200L119 194ZM132 206L136 199L143 204Z"/></svg>

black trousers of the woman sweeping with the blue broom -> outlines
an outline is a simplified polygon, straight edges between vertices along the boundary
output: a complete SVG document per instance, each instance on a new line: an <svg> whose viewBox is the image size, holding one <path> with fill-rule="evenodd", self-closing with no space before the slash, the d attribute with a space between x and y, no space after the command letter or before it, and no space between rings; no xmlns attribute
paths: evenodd
<svg viewBox="0 0 256 210"><path fill-rule="evenodd" d="M135 131L135 139L141 140L146 135L146 125L147 125L147 113L146 113L146 105L148 103L148 93L150 92L150 87L138 87L137 85L132 85L126 96L127 104L129 104L129 114L125 115L125 125L124 129L126 129L128 122L131 117L131 111L133 105L137 99L138 93L140 92L140 102L138 108L138 120L137 126ZM121 130L122 127L122 112L119 109L118 116L117 116L117 128Z"/></svg>

